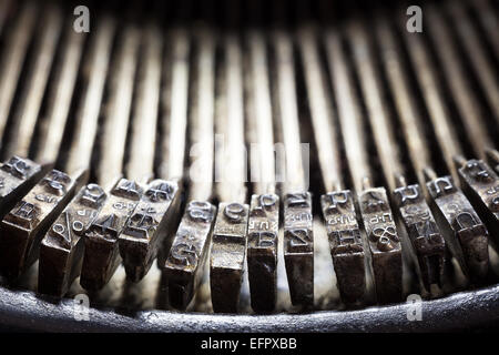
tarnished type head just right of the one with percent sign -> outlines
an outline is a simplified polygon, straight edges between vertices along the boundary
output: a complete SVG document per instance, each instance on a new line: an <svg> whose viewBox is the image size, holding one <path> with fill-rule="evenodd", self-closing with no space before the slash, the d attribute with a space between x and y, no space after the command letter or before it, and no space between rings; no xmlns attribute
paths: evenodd
<svg viewBox="0 0 499 355"><path fill-rule="evenodd" d="M98 217L85 233L85 252L80 284L89 290L102 288L121 262L118 241L129 217L141 200L143 189L121 179L110 192Z"/></svg>

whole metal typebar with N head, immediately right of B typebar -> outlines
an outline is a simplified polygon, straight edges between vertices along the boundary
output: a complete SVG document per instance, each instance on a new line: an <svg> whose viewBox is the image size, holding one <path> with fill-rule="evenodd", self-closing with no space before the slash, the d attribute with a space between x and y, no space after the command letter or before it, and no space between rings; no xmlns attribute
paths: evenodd
<svg viewBox="0 0 499 355"><path fill-rule="evenodd" d="M277 30L274 37L279 91L279 114L286 145L286 186L284 190L284 262L292 304L314 305L314 233L312 194L306 191L302 151L299 149L296 79L293 42L288 33ZM287 128L286 125L289 125ZM294 138L289 135L296 134ZM288 146L289 145L289 146ZM289 156L288 154L295 154ZM293 166L301 166L295 173Z"/></svg>

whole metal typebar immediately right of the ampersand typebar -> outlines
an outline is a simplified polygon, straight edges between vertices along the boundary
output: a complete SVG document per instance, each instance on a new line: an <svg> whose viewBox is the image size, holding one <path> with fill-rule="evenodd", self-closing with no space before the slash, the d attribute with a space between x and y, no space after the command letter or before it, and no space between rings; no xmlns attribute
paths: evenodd
<svg viewBox="0 0 499 355"><path fill-rule="evenodd" d="M386 26L384 29L388 32ZM380 32L380 34L387 33ZM393 38L389 34L385 40L385 45L386 42L388 42L388 45L394 45L394 42L390 42ZM394 128L388 118L386 102L383 101L381 97L381 78L375 68L373 47L368 40L366 28L361 27L361 24L359 24L354 33L354 48L356 48L354 57L359 71L360 87L363 88L368 105L368 116L375 136L378 156L381 162L381 170L386 181L388 181L390 195L394 197L393 201L395 201L397 207L396 212L406 227L405 231L399 231L400 237L403 239L403 247L406 247L406 255L416 258L416 268L421 277L422 284L427 291L430 291L431 284L441 284L446 253L445 240L440 235L420 186L418 184L408 185L405 181L404 164L397 151ZM386 47L384 53L387 54ZM395 71L397 69L400 70L400 68L396 68ZM395 72L395 74L399 73ZM407 87L404 85L401 89L407 89ZM393 92L393 94L397 95L398 92ZM403 103L399 98L399 104ZM410 106L405 110L413 111ZM411 119L415 119L414 114ZM413 126L415 125L410 118L407 121ZM408 128L406 130L408 131ZM411 133L418 134L419 132L415 131ZM419 143L422 141L420 136L415 139ZM424 151L418 153L425 155ZM413 155L416 154L416 152L413 152ZM405 243L406 241L410 241L410 244Z"/></svg>

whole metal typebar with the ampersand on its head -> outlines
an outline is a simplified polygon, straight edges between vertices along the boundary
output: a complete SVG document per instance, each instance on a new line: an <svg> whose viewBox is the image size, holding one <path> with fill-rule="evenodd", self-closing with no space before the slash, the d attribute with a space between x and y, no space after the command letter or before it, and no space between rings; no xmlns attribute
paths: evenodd
<svg viewBox="0 0 499 355"><path fill-rule="evenodd" d="M349 23L347 33L355 33L355 24ZM400 240L384 187L370 185L371 172L367 159L366 141L358 102L353 92L340 38L330 32L327 38L327 54L332 68L335 93L339 106L339 123L345 142L345 151L354 180L360 215L364 221L376 296L379 303L396 302L401 297L403 263ZM353 55L356 49L353 48Z"/></svg>

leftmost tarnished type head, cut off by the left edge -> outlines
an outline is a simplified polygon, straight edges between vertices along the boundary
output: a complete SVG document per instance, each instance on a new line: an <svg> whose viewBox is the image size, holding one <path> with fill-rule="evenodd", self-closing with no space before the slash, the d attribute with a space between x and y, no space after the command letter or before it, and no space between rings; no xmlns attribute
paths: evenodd
<svg viewBox="0 0 499 355"><path fill-rule="evenodd" d="M12 156L0 166L0 219L47 173L49 165Z"/></svg>

